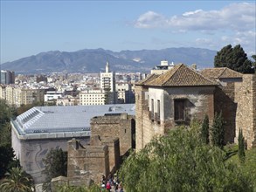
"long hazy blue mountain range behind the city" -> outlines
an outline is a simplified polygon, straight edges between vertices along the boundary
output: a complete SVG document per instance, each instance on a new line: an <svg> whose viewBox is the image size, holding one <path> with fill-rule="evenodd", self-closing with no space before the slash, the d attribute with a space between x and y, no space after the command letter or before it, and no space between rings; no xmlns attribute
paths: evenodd
<svg viewBox="0 0 256 192"><path fill-rule="evenodd" d="M108 61L115 72L149 72L161 60L174 64L197 64L212 67L217 51L200 48L167 48L162 50L109 51L85 49L80 51L47 51L2 64L2 69L19 73L103 72Z"/></svg>

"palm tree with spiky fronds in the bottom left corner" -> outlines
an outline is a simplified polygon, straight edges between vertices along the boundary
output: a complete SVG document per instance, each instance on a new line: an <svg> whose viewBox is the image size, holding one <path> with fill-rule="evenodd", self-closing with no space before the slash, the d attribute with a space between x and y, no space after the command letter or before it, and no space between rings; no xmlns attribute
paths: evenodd
<svg viewBox="0 0 256 192"><path fill-rule="evenodd" d="M22 168L11 168L0 185L1 191L11 192L32 192L35 191L31 175Z"/></svg>

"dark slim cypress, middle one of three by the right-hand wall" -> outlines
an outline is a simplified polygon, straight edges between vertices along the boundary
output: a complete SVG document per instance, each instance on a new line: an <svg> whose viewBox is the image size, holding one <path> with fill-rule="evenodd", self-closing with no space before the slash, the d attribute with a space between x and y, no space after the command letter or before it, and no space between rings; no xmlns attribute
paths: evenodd
<svg viewBox="0 0 256 192"><path fill-rule="evenodd" d="M213 124L211 127L211 143L212 145L220 147L222 149L225 145L224 139L225 129L222 113L215 113Z"/></svg>

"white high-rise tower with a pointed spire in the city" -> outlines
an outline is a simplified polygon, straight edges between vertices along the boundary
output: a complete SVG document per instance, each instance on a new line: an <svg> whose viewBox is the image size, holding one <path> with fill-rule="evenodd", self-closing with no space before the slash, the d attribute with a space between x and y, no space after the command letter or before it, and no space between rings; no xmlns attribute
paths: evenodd
<svg viewBox="0 0 256 192"><path fill-rule="evenodd" d="M107 104L116 103L115 72L110 72L110 66L106 63L106 71L100 72L100 88L107 93Z"/></svg>

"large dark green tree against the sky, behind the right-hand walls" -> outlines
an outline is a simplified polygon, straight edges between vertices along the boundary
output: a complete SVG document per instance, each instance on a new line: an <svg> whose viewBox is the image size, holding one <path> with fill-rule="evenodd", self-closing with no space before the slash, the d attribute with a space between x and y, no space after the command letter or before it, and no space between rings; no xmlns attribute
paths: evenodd
<svg viewBox="0 0 256 192"><path fill-rule="evenodd" d="M215 67L228 67L236 72L253 73L253 62L247 58L246 52L240 45L232 48L226 45L214 58Z"/></svg>

